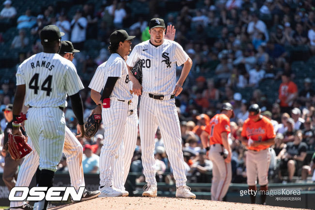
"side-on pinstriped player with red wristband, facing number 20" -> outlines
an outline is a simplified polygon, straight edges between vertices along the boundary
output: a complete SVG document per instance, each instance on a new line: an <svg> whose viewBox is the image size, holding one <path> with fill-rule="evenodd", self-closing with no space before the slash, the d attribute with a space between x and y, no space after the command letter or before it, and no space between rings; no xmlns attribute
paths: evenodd
<svg viewBox="0 0 315 210"><path fill-rule="evenodd" d="M112 187L114 158L125 133L129 104L133 98L130 93L129 75L124 56L130 51L131 39L126 31L118 30L110 34L110 58L99 65L90 82L91 97L102 105L105 144L100 154L100 191L99 197L122 196L119 189ZM103 97L100 92L103 90ZM122 173L124 173L122 168Z"/></svg>

